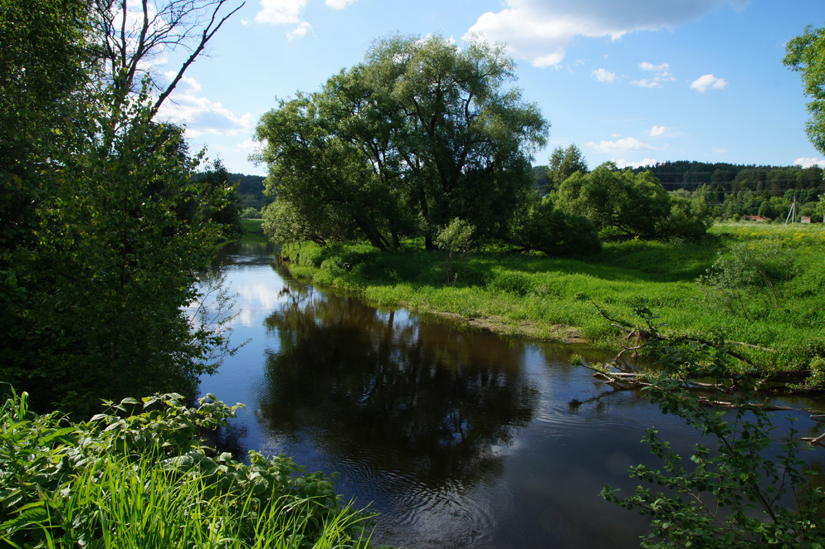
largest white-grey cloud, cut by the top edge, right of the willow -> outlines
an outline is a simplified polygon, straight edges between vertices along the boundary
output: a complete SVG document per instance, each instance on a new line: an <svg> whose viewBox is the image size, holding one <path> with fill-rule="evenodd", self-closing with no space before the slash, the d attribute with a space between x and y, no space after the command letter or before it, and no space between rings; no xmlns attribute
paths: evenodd
<svg viewBox="0 0 825 549"><path fill-rule="evenodd" d="M505 42L511 54L536 67L559 65L576 36L618 40L637 30L674 29L725 4L744 9L749 0L504 0L500 12L479 17L469 34Z"/></svg>

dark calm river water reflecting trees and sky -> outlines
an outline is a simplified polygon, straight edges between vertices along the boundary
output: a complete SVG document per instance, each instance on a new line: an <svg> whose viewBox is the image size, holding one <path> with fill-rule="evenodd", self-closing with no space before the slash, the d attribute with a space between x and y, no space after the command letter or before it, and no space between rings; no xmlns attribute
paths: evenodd
<svg viewBox="0 0 825 549"><path fill-rule="evenodd" d="M700 437L569 364L609 356L378 310L291 279L272 252L246 239L220 258L233 340L249 342L200 389L246 405L238 448L337 472L338 493L379 514L378 543L639 547L647 519L599 491L628 493L628 467L655 464L644 429L676 451Z"/></svg>

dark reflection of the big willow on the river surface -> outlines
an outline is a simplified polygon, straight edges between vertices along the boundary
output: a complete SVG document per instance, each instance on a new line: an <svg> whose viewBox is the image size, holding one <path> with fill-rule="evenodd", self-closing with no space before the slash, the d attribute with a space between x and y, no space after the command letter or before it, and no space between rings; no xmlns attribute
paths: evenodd
<svg viewBox="0 0 825 549"><path fill-rule="evenodd" d="M342 460L365 448L392 456L395 474L429 486L502 471L493 448L512 444L539 403L523 350L297 284L283 292L266 318L280 345L266 355L259 401L273 433L311 429Z"/></svg>

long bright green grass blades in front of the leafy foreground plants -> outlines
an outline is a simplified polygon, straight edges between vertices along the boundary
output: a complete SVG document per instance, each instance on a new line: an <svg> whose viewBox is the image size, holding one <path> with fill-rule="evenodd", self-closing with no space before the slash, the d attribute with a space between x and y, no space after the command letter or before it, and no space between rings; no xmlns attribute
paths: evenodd
<svg viewBox="0 0 825 549"><path fill-rule="evenodd" d="M45 504L24 509L12 528L4 525L5 539L23 529L40 540L38 547L65 549L92 539L106 549L369 547L369 528L352 528L368 515L350 505L318 526L314 508L322 504L312 498L284 495L261 504L252 493L226 493L219 485L158 462L107 459ZM354 530L363 535L352 537Z"/></svg>

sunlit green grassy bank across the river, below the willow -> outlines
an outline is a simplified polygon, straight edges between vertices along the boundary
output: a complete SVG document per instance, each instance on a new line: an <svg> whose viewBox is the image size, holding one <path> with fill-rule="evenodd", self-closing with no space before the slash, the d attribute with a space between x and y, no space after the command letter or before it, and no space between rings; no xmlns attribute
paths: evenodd
<svg viewBox="0 0 825 549"><path fill-rule="evenodd" d="M772 247L771 247L772 246ZM703 242L607 243L586 259L474 253L450 260L408 242L398 251L366 244L285 251L293 275L361 294L382 306L403 305L469 321L504 334L548 340L587 340L616 347L622 335L603 317L629 320L639 298L665 333L711 336L747 348L767 369L806 369L825 356L825 230L820 226L728 223ZM794 274L770 288L759 280L742 288L697 279L738 249L758 263L776 249L793 260ZM750 256L747 256L750 254ZM741 255L741 254L740 254ZM448 280L448 271L451 278ZM744 276L744 275L742 275Z"/></svg>

